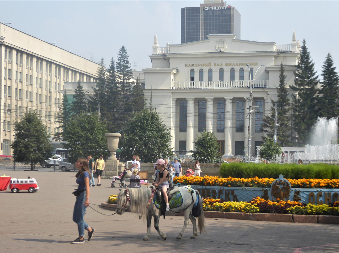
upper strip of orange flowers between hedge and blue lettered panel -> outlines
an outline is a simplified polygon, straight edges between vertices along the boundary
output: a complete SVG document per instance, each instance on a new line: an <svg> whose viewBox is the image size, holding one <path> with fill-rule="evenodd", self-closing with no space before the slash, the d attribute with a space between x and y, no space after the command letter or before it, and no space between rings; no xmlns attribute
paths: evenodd
<svg viewBox="0 0 339 253"><path fill-rule="evenodd" d="M204 177L175 177L174 184L201 185L201 186L228 186L228 187L271 187L274 178L219 178L212 176ZM339 188L338 179L287 179L292 188Z"/></svg>

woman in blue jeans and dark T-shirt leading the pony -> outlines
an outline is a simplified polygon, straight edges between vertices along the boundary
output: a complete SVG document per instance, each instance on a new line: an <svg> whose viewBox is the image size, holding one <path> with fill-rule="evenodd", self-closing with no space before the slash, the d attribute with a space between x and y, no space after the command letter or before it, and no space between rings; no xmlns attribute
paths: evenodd
<svg viewBox="0 0 339 253"><path fill-rule="evenodd" d="M84 215L86 208L89 206L89 174L88 162L85 158L79 158L75 163L75 167L79 170L75 175L77 180L76 183L79 185L77 192L77 200L75 201L73 210L73 221L78 224L79 237L71 243L84 243L85 229L88 231L88 241L92 239L95 232L94 228L91 228L84 222Z"/></svg>

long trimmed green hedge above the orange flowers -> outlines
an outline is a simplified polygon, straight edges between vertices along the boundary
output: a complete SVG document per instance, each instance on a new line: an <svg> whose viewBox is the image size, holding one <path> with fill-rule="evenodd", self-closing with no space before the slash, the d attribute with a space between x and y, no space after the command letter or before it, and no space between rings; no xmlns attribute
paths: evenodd
<svg viewBox="0 0 339 253"><path fill-rule="evenodd" d="M224 178L279 178L280 174L290 179L339 179L339 166L324 163L222 163L220 166Z"/></svg>

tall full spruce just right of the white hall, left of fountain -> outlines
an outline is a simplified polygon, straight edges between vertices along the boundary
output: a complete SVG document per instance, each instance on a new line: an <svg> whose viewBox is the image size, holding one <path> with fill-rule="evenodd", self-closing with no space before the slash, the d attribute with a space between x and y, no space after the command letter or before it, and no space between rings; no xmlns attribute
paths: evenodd
<svg viewBox="0 0 339 253"><path fill-rule="evenodd" d="M293 126L298 145L307 144L311 128L317 120L316 111L316 86L318 76L314 71L314 63L310 52L303 40L297 70L294 73L294 86L291 89L296 93L292 95L293 102Z"/></svg>

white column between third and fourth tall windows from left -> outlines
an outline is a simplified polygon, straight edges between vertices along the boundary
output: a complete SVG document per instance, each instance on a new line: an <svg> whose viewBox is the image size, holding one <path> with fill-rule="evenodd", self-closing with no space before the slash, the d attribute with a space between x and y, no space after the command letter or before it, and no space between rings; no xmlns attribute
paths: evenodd
<svg viewBox="0 0 339 253"><path fill-rule="evenodd" d="M233 124L233 111L232 111L232 98L225 99L225 154L223 158L232 157L232 124Z"/></svg>

